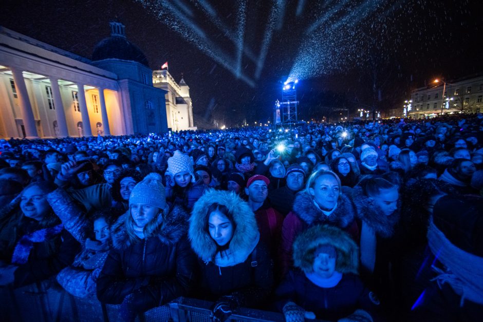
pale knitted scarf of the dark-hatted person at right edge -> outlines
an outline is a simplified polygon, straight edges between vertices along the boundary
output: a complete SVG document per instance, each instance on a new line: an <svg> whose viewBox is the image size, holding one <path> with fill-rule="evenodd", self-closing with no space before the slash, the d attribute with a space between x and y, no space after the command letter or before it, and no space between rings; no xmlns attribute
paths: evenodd
<svg viewBox="0 0 483 322"><path fill-rule="evenodd" d="M435 269L438 276L433 280L438 282L438 286L449 283L455 293L461 296L460 306L463 306L466 298L483 304L483 258L453 245L435 226L433 218L430 218L428 227L428 245L447 268L445 271Z"/></svg>

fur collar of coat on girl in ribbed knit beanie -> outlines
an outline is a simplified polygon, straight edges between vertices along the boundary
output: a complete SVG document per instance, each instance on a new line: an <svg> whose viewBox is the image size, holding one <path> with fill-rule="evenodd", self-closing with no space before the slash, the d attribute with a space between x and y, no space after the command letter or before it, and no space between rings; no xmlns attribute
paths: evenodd
<svg viewBox="0 0 483 322"><path fill-rule="evenodd" d="M121 215L111 226L111 236L115 249L126 249L131 245L127 235L125 220L131 216L130 211ZM179 205L171 207L168 215L165 215L162 223L153 235L165 244L175 244L188 232L188 213Z"/></svg>

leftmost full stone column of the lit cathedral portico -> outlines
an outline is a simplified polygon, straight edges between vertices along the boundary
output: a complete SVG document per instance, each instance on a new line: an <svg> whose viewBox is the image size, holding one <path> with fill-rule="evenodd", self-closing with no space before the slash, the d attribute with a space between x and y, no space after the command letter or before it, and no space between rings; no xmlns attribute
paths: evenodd
<svg viewBox="0 0 483 322"><path fill-rule="evenodd" d="M39 134L37 133L37 127L35 126L32 105L28 98L27 86L25 86L22 70L16 68L10 68L10 70L13 74L18 101L20 102L20 111L22 113L22 120L24 121L25 135L27 139L38 139Z"/></svg>

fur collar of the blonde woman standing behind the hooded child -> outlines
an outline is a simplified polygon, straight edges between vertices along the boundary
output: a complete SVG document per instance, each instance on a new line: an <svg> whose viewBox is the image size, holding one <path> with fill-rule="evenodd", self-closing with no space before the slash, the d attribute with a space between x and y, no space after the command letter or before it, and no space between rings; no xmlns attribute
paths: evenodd
<svg viewBox="0 0 483 322"><path fill-rule="evenodd" d="M311 196L304 191L295 196L293 212L308 225L314 223L330 223L340 228L346 228L355 219L354 205L350 199L341 193L337 201L337 208L329 216L315 205Z"/></svg>

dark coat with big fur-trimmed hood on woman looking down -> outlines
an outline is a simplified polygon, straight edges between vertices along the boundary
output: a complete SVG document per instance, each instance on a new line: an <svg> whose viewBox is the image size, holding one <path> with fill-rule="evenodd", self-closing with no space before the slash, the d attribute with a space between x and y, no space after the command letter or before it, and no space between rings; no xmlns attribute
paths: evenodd
<svg viewBox="0 0 483 322"><path fill-rule="evenodd" d="M207 209L215 202L226 205L236 223L223 255L204 226ZM207 300L225 297L235 306L263 305L273 283L272 265L268 250L259 242L255 215L248 203L232 192L207 192L195 204L189 236L191 247L198 255L198 297Z"/></svg>

